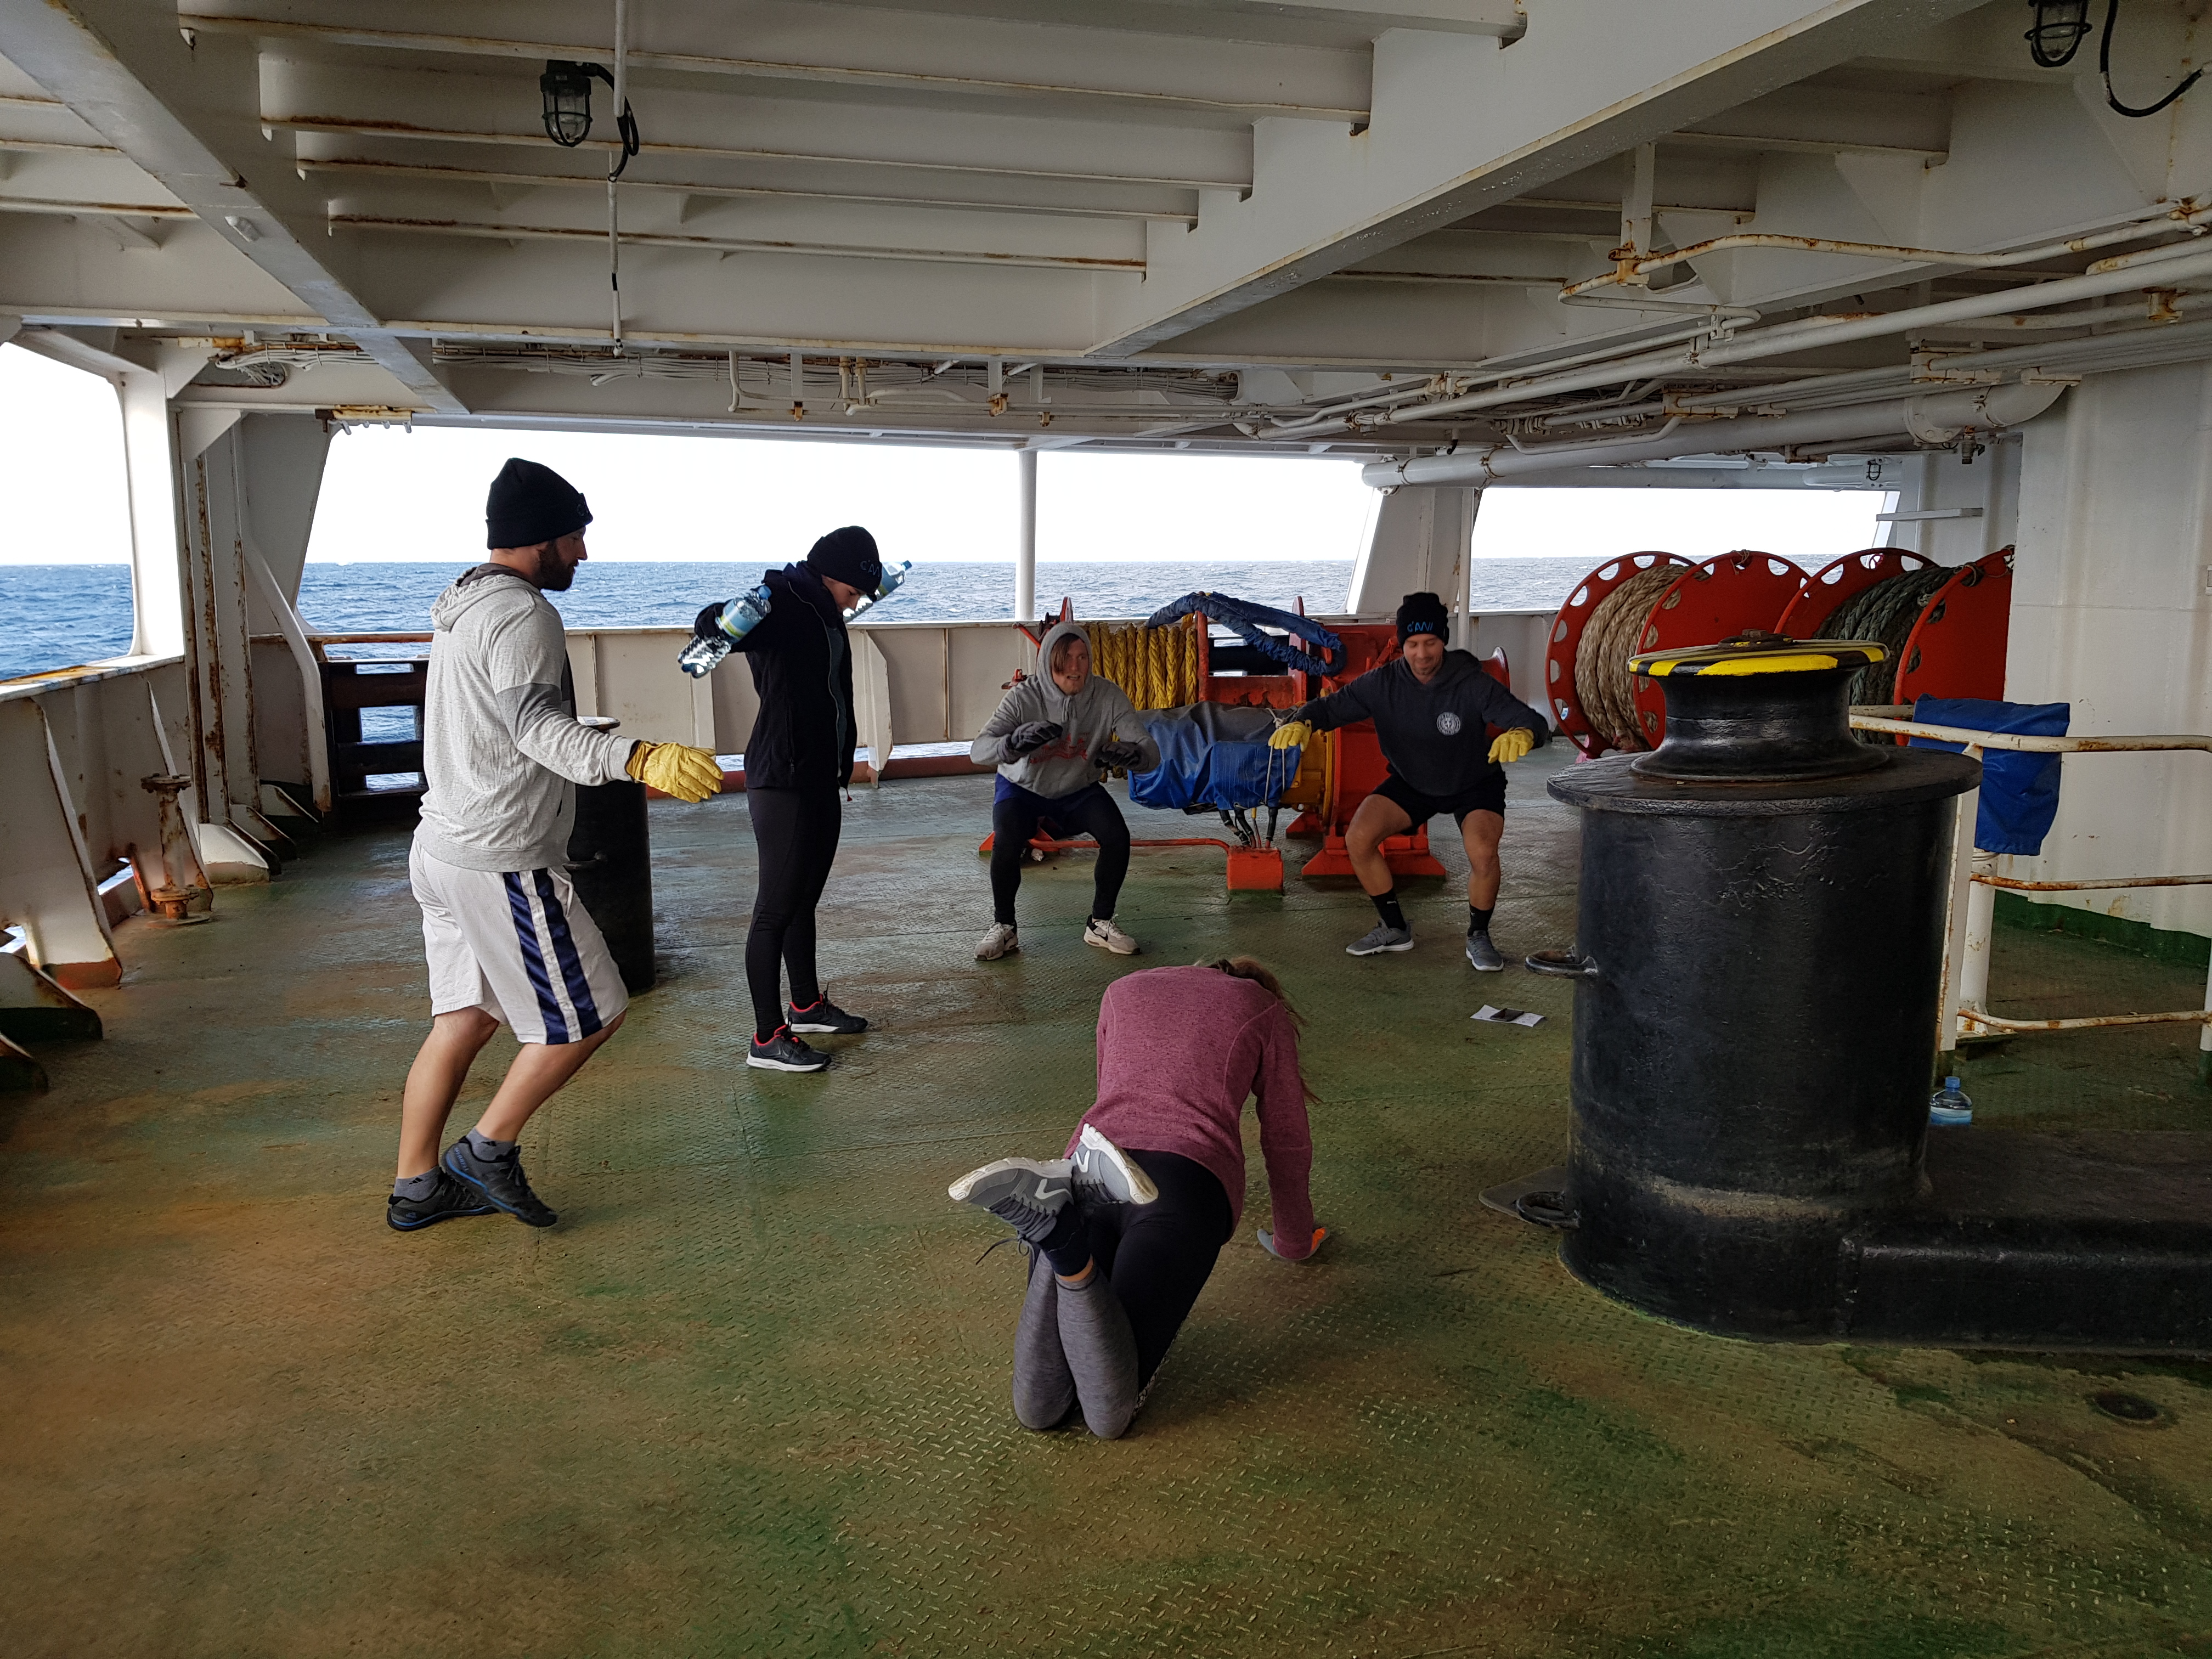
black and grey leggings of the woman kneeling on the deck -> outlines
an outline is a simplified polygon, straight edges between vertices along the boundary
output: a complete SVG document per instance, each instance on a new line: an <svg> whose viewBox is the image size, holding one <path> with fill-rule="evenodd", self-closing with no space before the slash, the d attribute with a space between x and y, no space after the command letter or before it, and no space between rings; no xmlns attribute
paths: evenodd
<svg viewBox="0 0 2212 1659"><path fill-rule="evenodd" d="M1117 1440L1228 1241L1230 1201L1203 1164L1135 1148L1130 1157L1159 1199L1084 1206L1091 1279L1071 1290L1044 1252L1029 1259L1013 1334L1013 1416L1024 1429L1057 1429L1082 1405L1091 1433Z"/></svg>

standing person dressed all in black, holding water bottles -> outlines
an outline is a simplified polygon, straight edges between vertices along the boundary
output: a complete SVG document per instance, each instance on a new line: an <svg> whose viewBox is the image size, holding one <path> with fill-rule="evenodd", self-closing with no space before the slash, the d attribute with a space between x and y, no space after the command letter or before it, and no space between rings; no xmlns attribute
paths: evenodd
<svg viewBox="0 0 2212 1659"><path fill-rule="evenodd" d="M836 858L838 792L852 783L856 743L845 613L880 582L876 538L858 524L830 531L805 564L763 577L765 615L734 644L761 695L745 739L745 805L761 852L761 891L745 936L754 1024L748 1066L821 1071L830 1055L807 1046L801 1031L867 1031L867 1020L838 1009L814 978L814 905ZM721 617L732 606L710 604L697 633L730 637ZM792 975L790 1009L781 969Z"/></svg>

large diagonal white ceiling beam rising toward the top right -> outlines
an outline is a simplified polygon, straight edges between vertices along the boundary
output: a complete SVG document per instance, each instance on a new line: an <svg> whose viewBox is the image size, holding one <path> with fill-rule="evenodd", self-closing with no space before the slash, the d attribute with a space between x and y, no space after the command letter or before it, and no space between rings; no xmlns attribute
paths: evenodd
<svg viewBox="0 0 2212 1659"><path fill-rule="evenodd" d="M1104 312L1097 349L1159 345L1971 4L1548 0L1511 49L1385 33L1374 124L1256 122L1252 192L1206 197L1194 230L1152 228L1146 283Z"/></svg>

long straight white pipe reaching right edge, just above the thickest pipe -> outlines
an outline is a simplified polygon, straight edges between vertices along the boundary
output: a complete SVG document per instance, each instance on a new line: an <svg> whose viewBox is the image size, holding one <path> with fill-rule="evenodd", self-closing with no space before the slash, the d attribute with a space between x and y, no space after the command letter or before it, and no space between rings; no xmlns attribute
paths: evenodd
<svg viewBox="0 0 2212 1659"><path fill-rule="evenodd" d="M2152 281L2146 281L2146 274L2150 274ZM1783 352L1847 345L1851 341L1874 341L1889 334L1909 334L1911 330L1931 327L1936 323L1971 323L1982 316L2002 316L2006 312L2033 312L2048 305L2070 305L2077 299L2104 299L2106 294L2121 294L2130 288L2166 288L2174 281L2205 274L2212 274L2212 248L2197 248L2194 252L2168 254L2163 259L2135 254L2119 270L2059 276L2057 281L2031 283L2028 288L2002 288L1991 294L1969 294L1964 299L1947 299L1938 305L1913 305L1911 310L1882 312L1878 316L1851 316L1843 321L1814 316L1803 323L1781 323L1778 327L1714 341L1703 347L1646 352L1641 356L1613 358L1610 363L1593 363L1590 367L1546 374L1515 385L1495 385L1484 392L1469 392L1467 396L1447 398L1444 403L1394 409L1380 416L1376 425L1396 420L1438 420L1440 416L1493 409L1502 403L1524 403L1528 398L1555 396L1564 392L1593 392L1597 387L1619 385L1621 380L1632 380L1646 374L1683 374L1690 369L1717 369L1730 363L1756 363L1761 358L1781 356Z"/></svg>

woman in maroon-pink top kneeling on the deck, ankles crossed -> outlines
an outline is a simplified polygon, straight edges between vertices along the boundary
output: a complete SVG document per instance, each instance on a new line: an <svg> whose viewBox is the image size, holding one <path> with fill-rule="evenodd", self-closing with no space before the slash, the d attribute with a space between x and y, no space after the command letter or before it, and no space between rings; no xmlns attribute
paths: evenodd
<svg viewBox="0 0 2212 1659"><path fill-rule="evenodd" d="M1298 1071L1298 1015L1248 956L1146 969L1099 1000L1099 1091L1066 1157L1009 1157L962 1175L951 1197L1011 1223L1031 1248L1013 1338L1013 1411L1055 1429L1082 1405L1117 1438L1197 1303L1243 1212L1245 1097L1259 1113L1274 1230L1259 1243L1305 1261L1314 1139Z"/></svg>

